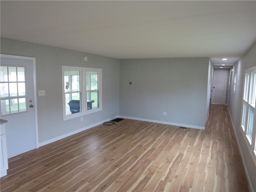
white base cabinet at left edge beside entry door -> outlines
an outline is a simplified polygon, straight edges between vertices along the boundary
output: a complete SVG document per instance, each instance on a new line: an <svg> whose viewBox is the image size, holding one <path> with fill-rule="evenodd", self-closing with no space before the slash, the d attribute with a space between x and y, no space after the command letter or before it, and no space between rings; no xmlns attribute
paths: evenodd
<svg viewBox="0 0 256 192"><path fill-rule="evenodd" d="M1 175L5 176L7 175L8 170L8 158L7 158L7 146L6 146L6 129L5 124L0 125L0 136L1 136L1 142L0 142L0 170Z"/></svg>

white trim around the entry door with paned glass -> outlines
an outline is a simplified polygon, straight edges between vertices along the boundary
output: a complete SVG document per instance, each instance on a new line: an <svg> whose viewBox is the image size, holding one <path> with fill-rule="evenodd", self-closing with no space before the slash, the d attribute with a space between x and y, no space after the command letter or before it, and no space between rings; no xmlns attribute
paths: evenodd
<svg viewBox="0 0 256 192"><path fill-rule="evenodd" d="M17 56L17 55L7 55L0 54L1 58L8 59L19 59L19 60L29 60L32 61L33 67L33 84L34 84L34 113L35 113L35 133L36 133L36 148L39 147L39 139L38 139L38 115L37 115L37 90L36 90L36 58L34 57L25 57L25 56Z"/></svg>

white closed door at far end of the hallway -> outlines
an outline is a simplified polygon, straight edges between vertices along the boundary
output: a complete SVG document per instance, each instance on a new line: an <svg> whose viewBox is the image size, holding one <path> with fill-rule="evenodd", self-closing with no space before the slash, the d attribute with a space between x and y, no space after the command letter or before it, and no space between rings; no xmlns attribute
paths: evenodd
<svg viewBox="0 0 256 192"><path fill-rule="evenodd" d="M226 104L228 71L214 71L212 82L212 103Z"/></svg>

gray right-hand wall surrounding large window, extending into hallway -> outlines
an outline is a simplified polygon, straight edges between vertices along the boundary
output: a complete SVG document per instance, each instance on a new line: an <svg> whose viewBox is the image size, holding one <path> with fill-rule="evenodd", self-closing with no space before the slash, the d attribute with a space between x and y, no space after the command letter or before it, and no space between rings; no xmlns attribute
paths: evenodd
<svg viewBox="0 0 256 192"><path fill-rule="evenodd" d="M250 177L250 181L252 184L253 191L256 191L256 166L253 161L253 157L250 154L250 151L248 150L246 146L246 140L243 137L243 134L241 132L240 127L240 120L241 120L241 110L242 110L242 95L243 95L243 86L244 86L244 70L248 69L252 66L256 65L256 45L246 52L240 58L240 60L234 65L233 72L232 72L232 78L230 83L230 100L228 108L230 110L232 122L234 124L234 128L236 131L236 135L238 138L238 143L240 145L242 156L244 158L244 162L246 164L246 170L248 172L248 175ZM236 84L236 93L233 93L234 88L234 74L236 75L237 84Z"/></svg>

